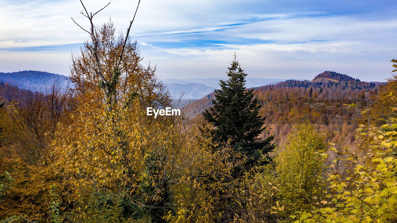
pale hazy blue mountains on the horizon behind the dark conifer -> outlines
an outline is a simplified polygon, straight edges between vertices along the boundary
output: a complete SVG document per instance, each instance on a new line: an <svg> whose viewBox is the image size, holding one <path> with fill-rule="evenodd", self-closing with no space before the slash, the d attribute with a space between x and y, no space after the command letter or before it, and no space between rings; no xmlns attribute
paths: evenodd
<svg viewBox="0 0 397 223"><path fill-rule="evenodd" d="M182 99L198 99L206 96L214 89L220 89L219 81L222 78L189 78L189 79L164 79L164 83L168 85L173 98ZM224 80L226 78L223 78ZM245 87L260 87L264 85L277 84L285 79L264 79L264 78L247 78Z"/></svg>

